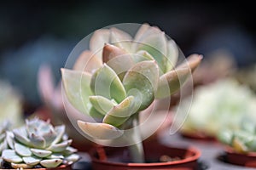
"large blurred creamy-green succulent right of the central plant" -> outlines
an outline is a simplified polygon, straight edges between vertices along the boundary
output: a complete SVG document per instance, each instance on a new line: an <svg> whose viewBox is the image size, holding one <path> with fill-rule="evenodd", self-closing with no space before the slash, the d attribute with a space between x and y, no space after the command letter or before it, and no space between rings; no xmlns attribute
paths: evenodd
<svg viewBox="0 0 256 170"><path fill-rule="evenodd" d="M216 137L223 128L237 129L241 120L255 118L256 98L246 86L226 78L195 89L193 105L184 99L178 109L191 105L182 133Z"/></svg>

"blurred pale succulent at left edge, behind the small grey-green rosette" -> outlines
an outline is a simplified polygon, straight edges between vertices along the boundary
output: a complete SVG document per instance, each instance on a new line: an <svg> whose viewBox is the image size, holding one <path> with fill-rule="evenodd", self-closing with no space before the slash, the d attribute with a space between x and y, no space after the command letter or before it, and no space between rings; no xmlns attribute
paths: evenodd
<svg viewBox="0 0 256 170"><path fill-rule="evenodd" d="M15 88L0 80L0 123L11 122L12 127L22 124L22 104Z"/></svg>

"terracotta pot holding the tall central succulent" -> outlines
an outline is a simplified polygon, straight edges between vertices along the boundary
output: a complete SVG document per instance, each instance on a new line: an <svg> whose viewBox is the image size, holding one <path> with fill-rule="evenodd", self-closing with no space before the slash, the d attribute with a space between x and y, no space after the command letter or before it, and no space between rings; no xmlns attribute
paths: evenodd
<svg viewBox="0 0 256 170"><path fill-rule="evenodd" d="M107 160L100 160L96 150L90 152L93 169L125 170L125 169L197 169L197 160L201 152L194 148L173 148L158 143L144 144L146 161L148 163L129 163L127 148L105 147ZM160 156L179 157L177 161L157 162ZM116 161L118 158L119 161Z"/></svg>

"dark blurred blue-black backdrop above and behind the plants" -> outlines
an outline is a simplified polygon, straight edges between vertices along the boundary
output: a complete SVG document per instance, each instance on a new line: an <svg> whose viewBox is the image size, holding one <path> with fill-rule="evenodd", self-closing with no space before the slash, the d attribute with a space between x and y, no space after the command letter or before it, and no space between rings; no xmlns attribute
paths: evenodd
<svg viewBox="0 0 256 170"><path fill-rule="evenodd" d="M186 56L228 56L232 65L247 68L256 62L254 17L253 5L243 2L1 1L0 79L18 89L30 113L43 103L40 65L50 66L56 84L76 43L103 26L125 22L159 26Z"/></svg>

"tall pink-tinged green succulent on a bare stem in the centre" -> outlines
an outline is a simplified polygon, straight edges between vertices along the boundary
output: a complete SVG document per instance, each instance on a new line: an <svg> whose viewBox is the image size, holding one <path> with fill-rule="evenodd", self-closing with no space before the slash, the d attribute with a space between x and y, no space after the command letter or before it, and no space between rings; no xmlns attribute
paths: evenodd
<svg viewBox="0 0 256 170"><path fill-rule="evenodd" d="M78 121L82 131L93 139L119 139L127 136L141 142L136 127L138 113L154 99L163 99L183 85L201 62L201 55L189 56L177 64L178 48L159 28L141 26L132 38L115 27L95 31L90 50L85 50L73 70L61 69L67 99L79 111L99 122ZM131 145L132 161L143 161L142 145ZM133 149L132 149L133 148Z"/></svg>

